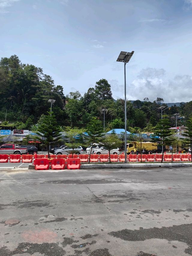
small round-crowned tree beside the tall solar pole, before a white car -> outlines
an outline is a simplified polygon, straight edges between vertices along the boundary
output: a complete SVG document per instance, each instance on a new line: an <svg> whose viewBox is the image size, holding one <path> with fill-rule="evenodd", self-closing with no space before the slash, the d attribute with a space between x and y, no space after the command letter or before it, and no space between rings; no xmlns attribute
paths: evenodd
<svg viewBox="0 0 192 256"><path fill-rule="evenodd" d="M109 162L111 163L110 151L113 148L120 148L122 145L122 141L116 135L110 135L102 139L100 145L105 147L109 151Z"/></svg>

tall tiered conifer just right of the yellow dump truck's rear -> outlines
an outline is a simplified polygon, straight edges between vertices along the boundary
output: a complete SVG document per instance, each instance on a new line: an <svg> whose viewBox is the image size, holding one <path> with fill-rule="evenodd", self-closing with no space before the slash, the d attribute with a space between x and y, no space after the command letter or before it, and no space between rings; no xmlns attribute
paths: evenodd
<svg viewBox="0 0 192 256"><path fill-rule="evenodd" d="M155 132L154 136L152 136L153 141L159 142L161 141L162 146L169 145L169 136L171 136L171 130L169 130L170 126L170 121L167 118L167 116L163 116L163 119L160 119L157 125L155 126ZM158 136L159 138L155 138L155 136ZM163 155L164 151L162 152L162 159L161 163L163 163Z"/></svg>

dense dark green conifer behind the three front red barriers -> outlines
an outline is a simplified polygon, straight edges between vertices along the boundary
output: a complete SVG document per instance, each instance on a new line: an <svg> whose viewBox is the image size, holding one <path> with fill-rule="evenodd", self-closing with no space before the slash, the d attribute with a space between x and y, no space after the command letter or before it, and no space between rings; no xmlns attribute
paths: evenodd
<svg viewBox="0 0 192 256"><path fill-rule="evenodd" d="M48 157L50 145L61 140L60 132L61 128L57 125L55 115L51 110L47 111L47 115L45 115L43 122L38 125L35 133L42 137L44 144L47 146Z"/></svg>

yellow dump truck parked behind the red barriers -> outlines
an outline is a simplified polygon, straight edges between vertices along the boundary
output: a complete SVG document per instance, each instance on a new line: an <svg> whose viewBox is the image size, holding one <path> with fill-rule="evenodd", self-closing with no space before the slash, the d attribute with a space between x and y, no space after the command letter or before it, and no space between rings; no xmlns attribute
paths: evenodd
<svg viewBox="0 0 192 256"><path fill-rule="evenodd" d="M157 152L157 142L140 142L132 141L127 144L127 154L137 154L142 147L144 154L152 154Z"/></svg>

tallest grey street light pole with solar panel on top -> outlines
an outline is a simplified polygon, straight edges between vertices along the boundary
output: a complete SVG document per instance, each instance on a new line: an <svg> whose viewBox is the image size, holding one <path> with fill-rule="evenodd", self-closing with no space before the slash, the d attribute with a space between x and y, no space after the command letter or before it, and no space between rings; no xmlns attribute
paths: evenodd
<svg viewBox="0 0 192 256"><path fill-rule="evenodd" d="M125 65L130 61L134 51L131 53L121 51L117 61L124 62L124 80L125 80L125 163L127 163L127 97L126 97L126 69Z"/></svg>

